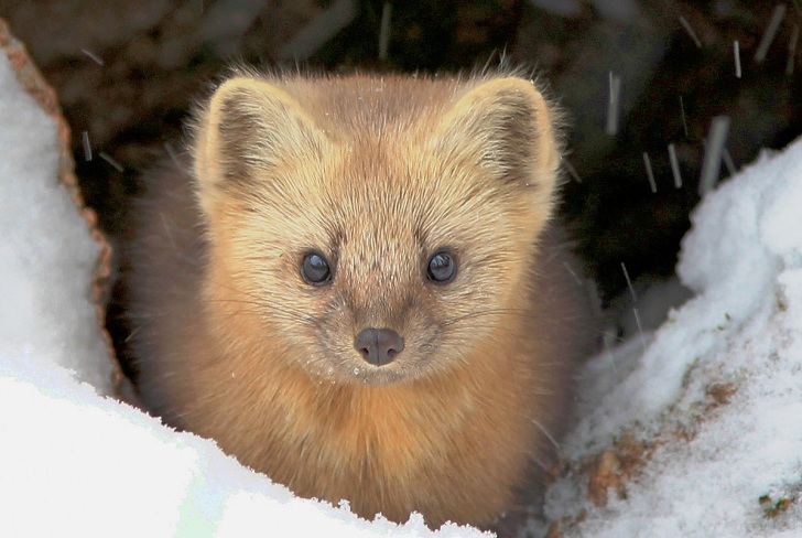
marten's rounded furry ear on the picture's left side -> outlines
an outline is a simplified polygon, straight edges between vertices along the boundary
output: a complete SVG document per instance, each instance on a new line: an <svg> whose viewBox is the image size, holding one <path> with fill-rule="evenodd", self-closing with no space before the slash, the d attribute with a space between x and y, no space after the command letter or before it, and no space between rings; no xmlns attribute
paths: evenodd
<svg viewBox="0 0 802 538"><path fill-rule="evenodd" d="M325 134L289 93L258 78L224 83L202 115L195 141L199 194L247 184L283 163L322 154Z"/></svg>

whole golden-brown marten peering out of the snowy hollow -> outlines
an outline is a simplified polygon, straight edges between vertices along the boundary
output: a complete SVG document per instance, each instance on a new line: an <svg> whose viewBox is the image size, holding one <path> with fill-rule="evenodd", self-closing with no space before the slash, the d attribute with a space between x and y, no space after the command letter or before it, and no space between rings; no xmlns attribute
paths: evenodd
<svg viewBox="0 0 802 538"><path fill-rule="evenodd" d="M503 73L239 73L196 116L128 252L144 406L297 495L491 525L587 342L553 107Z"/></svg>

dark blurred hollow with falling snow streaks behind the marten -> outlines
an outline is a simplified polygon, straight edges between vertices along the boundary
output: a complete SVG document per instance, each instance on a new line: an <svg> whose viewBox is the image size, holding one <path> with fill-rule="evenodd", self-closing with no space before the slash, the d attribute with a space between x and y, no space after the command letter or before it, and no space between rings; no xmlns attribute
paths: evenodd
<svg viewBox="0 0 802 538"><path fill-rule="evenodd" d="M802 133L800 0L0 0L0 17L56 89L112 240L232 63L535 69L566 111L561 212L606 304L621 263L636 286L673 273L714 118L729 121L715 179Z"/></svg>

